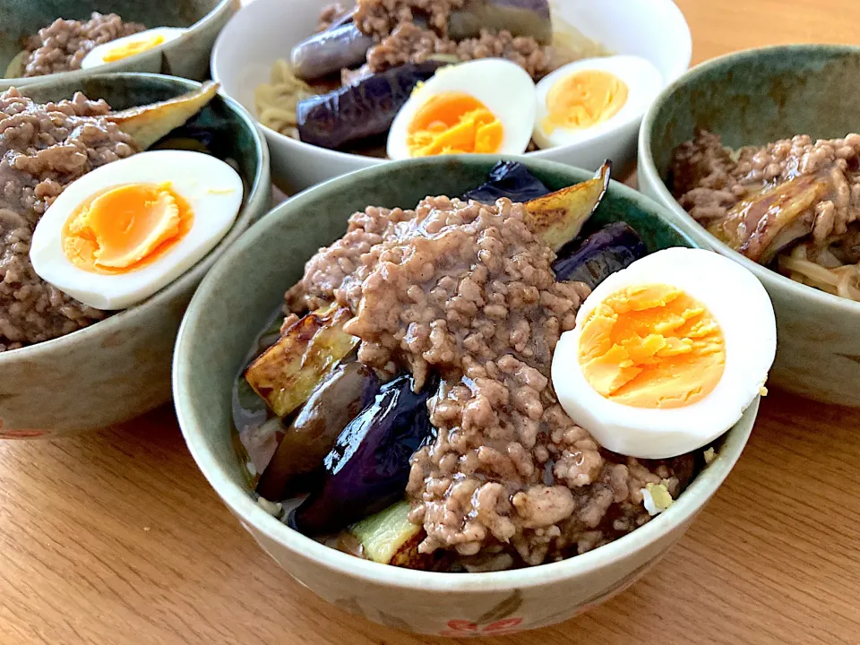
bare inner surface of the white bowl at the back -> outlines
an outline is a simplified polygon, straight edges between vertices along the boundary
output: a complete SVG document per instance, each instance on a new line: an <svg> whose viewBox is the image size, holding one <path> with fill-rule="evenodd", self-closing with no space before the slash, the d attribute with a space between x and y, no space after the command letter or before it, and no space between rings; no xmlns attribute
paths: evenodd
<svg viewBox="0 0 860 645"><path fill-rule="evenodd" d="M222 83L228 96L255 115L254 89L269 82L271 65L277 59L288 59L293 46L313 35L320 9L327 4L331 3L254 0L221 32L212 52L213 78ZM341 4L354 3L346 0ZM667 82L684 73L690 64L690 30L671 0L651 0L647 4L640 0L564 0L553 4L555 13L565 22L615 53L647 58ZM267 133L285 145L297 144L279 133Z"/></svg>

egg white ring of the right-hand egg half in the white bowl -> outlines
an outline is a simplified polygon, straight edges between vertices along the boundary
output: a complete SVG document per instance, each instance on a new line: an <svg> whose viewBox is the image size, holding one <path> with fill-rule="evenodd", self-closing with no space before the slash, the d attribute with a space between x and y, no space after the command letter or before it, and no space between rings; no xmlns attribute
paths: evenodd
<svg viewBox="0 0 860 645"><path fill-rule="evenodd" d="M542 125L549 115L546 96L557 82L589 70L615 74L626 83L628 92L624 106L614 116L592 127L577 130L556 128L553 133L547 133ZM538 82L538 111L532 135L541 149L587 141L641 118L662 89L663 77L657 67L640 56L606 56L563 65Z"/></svg>

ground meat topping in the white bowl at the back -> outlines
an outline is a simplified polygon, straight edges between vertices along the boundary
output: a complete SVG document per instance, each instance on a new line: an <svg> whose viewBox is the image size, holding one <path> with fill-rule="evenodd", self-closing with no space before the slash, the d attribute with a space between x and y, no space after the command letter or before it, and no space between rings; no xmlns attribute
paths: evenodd
<svg viewBox="0 0 860 645"><path fill-rule="evenodd" d="M367 52L367 64L359 71L346 71L344 79L349 82L401 64L424 63L430 56L453 56L462 62L507 58L536 80L558 66L552 47L530 37L514 37L510 31L482 30L478 38L449 39L448 18L463 4L463 0L358 0L355 24L377 44ZM324 9L321 25L334 22L339 10L338 5Z"/></svg>

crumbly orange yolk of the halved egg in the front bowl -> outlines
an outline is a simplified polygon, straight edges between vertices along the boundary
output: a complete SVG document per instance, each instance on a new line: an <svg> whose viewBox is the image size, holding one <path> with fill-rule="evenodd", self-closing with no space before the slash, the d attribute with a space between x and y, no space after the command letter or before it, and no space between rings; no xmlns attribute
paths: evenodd
<svg viewBox="0 0 860 645"><path fill-rule="evenodd" d="M582 326L582 374L608 400L681 408L707 396L726 367L726 342L710 311L664 284L624 288Z"/></svg>

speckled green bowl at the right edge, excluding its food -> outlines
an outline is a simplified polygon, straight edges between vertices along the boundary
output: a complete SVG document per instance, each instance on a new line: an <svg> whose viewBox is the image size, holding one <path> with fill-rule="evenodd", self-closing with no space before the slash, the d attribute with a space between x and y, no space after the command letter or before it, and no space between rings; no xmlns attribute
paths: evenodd
<svg viewBox="0 0 860 645"><path fill-rule="evenodd" d="M770 271L707 233L669 193L675 147L695 127L733 148L794 134L813 139L860 128L860 47L793 45L753 49L701 64L671 85L645 116L640 190L690 225L690 236L753 271L777 314L770 383L828 403L860 406L860 304ZM686 228L684 230L687 230Z"/></svg>

